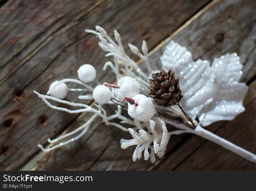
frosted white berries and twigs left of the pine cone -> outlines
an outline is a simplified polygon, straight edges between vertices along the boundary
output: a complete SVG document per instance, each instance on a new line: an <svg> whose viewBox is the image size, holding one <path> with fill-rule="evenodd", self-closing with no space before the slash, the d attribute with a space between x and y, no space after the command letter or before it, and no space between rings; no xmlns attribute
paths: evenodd
<svg viewBox="0 0 256 191"><path fill-rule="evenodd" d="M99 46L104 51L108 52L106 56L114 57L113 62L108 61L104 64L103 70L110 67L116 76L117 83L111 84L105 82L99 84L96 79L97 72L95 68L90 64L84 64L77 70L78 79L66 78L54 81L51 83L47 95L34 91L35 94L42 98L42 100L53 109L68 113L94 113L86 123L82 124L74 131L53 140L48 139L48 142L52 145L51 147L44 148L41 144L39 144L38 147L44 152L49 152L69 144L74 140L78 140L86 133L86 131L88 131L88 128L90 128L93 121L97 117L101 117L106 125L115 126L122 131L131 133L133 137L132 139L122 139L120 143L121 148L123 149L132 145L136 146L132 156L133 160L141 158L142 153L144 152L144 159L150 159L153 163L156 160L155 154L159 157L163 155L169 140L169 134L163 120L155 116L156 108L153 99L145 95L149 86L148 74L152 74L148 59L147 44L143 41L141 49L142 53L134 45L128 44L131 52L145 62L148 70L148 73L146 74L138 67L137 63L125 53L121 37L117 31L114 31L115 40L117 41L117 43L115 43L103 28L96 26L96 30L97 31L86 31L94 33L99 37ZM91 87L88 84L93 81L98 83L95 87ZM77 83L84 88L69 88L67 83ZM79 95L78 98L94 99L94 101L97 102L97 104L95 104L96 107L84 103L74 103L63 100L69 91L84 92L82 95ZM79 109L54 106L48 100L53 100L76 108L79 107ZM104 109L106 104L115 104L117 106L115 114L108 115ZM129 117L122 115L123 111L126 111ZM76 136L73 137L72 135ZM67 139L70 136L72 137Z"/></svg>

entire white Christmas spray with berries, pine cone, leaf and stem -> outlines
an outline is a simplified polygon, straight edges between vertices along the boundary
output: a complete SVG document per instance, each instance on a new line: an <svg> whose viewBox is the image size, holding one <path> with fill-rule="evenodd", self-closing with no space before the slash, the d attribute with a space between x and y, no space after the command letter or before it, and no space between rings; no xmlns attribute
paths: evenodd
<svg viewBox="0 0 256 191"><path fill-rule="evenodd" d="M51 143L49 147L44 148L39 144L42 151L48 152L79 139L88 131L93 121L101 117L106 125L129 131L132 138L121 139L120 143L122 149L136 146L132 155L134 161L144 156L144 160L150 159L154 163L155 155L159 158L164 155L171 135L193 133L256 162L255 154L203 128L218 120L232 120L244 110L242 101L247 86L239 83L242 66L236 53L216 58L210 66L207 60L193 62L191 53L172 41L161 57L163 70L153 72L146 42L142 43L142 53L136 46L128 44L132 53L146 64L147 72L144 72L127 56L116 30L114 36L117 43L99 26L96 26L96 31L86 32L97 35L99 46L108 52L106 56L114 57L113 63L106 62L103 70L110 67L116 75L117 84L105 82L95 88L86 84L96 76L94 67L86 64L78 69L78 78L81 81L70 78L55 81L47 95L34 91L53 109L68 113L94 113L85 124L74 131L54 140L48 139ZM78 83L83 89L68 88L66 83ZM97 109L83 103L62 100L68 91L86 92L79 99L94 99L98 103L95 104ZM79 106L80 109L54 106L48 100ZM108 115L104 104L115 104L115 114ZM129 117L123 116L122 112L127 112ZM168 132L166 125L171 125L176 130ZM77 133L79 134L74 136ZM72 136L74 137L70 138Z"/></svg>

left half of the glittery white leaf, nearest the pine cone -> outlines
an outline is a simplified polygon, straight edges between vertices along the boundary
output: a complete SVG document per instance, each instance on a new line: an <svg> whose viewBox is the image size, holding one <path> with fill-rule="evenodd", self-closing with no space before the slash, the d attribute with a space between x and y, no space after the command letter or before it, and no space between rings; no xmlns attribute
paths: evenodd
<svg viewBox="0 0 256 191"><path fill-rule="evenodd" d="M191 53L173 41L166 47L161 61L163 69L171 68L179 77L183 94L180 105L189 116L195 118L212 101L214 73L211 72L209 62L200 59L193 62Z"/></svg>

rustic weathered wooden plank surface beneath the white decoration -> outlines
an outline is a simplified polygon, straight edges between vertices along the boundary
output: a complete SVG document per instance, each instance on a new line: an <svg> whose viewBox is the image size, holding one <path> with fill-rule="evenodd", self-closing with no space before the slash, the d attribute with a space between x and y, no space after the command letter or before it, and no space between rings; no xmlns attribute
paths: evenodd
<svg viewBox="0 0 256 191"><path fill-rule="evenodd" d="M195 135L170 138L166 155L155 164L132 162L134 148L121 149L129 133L106 128L98 119L79 141L42 153L37 144L81 125L88 114L48 108L33 90L46 93L56 79L75 78L84 63L113 82L98 39L84 32L100 25L113 37L117 29L128 50L146 40L151 62L159 65L171 40L186 46L193 59L213 60L237 52L241 81L249 86L246 111L208 130L256 153L256 1L163 0L0 1L0 169L1 170L255 170L251 163ZM131 55L131 54L129 54ZM133 57L134 59L137 59ZM77 93L67 100L78 101Z"/></svg>

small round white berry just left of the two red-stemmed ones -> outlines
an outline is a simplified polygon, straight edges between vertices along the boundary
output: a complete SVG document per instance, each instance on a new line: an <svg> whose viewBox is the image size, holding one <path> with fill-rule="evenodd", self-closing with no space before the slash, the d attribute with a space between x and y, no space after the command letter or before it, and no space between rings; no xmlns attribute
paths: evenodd
<svg viewBox="0 0 256 191"><path fill-rule="evenodd" d="M111 99L111 90L105 85L97 85L93 90L93 99L100 104L108 103Z"/></svg>

